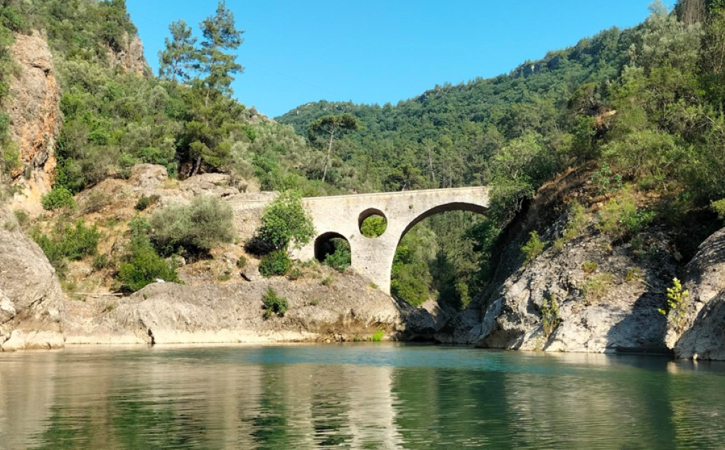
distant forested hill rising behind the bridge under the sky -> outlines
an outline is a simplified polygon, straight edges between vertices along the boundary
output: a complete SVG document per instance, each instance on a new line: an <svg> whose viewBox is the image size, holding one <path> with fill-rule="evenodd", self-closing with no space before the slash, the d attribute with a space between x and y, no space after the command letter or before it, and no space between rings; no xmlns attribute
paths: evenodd
<svg viewBox="0 0 725 450"><path fill-rule="evenodd" d="M597 103L600 93L631 61L638 36L638 30L606 30L509 75L436 86L397 106L319 101L277 120L307 136L310 124L326 114L358 117L364 130L343 138L338 154L364 167L366 178L373 175L368 190L487 183L490 159L507 144L568 151L580 117L605 111ZM581 98L574 99L577 92ZM376 164L368 167L370 160Z"/></svg>

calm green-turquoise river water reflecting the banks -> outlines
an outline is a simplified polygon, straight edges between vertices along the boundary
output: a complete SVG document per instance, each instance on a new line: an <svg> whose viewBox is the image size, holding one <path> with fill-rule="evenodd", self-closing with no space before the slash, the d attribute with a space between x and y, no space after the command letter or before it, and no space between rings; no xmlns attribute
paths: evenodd
<svg viewBox="0 0 725 450"><path fill-rule="evenodd" d="M725 364L404 344L0 354L1 449L725 448Z"/></svg>

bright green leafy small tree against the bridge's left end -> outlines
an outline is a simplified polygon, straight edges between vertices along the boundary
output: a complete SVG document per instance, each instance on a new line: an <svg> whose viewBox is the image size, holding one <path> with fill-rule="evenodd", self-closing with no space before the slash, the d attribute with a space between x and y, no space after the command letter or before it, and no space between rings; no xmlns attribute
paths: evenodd
<svg viewBox="0 0 725 450"><path fill-rule="evenodd" d="M301 249L315 236L315 227L302 204L302 196L295 191L281 194L262 215L258 236L278 250L288 246Z"/></svg>

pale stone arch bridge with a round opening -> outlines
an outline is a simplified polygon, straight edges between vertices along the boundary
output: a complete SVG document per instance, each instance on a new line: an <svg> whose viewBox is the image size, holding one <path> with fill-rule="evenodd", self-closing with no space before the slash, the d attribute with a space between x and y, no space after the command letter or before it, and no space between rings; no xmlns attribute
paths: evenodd
<svg viewBox="0 0 725 450"><path fill-rule="evenodd" d="M405 233L421 220L439 212L486 211L489 207L489 188L364 193L312 197L303 199L303 202L315 224L316 235L307 246L294 251L292 256L302 260L320 259L323 246L331 238L344 238L352 251L352 268L376 283L381 291L390 293L395 250ZM235 202L238 212L244 208L244 201ZM385 217L388 222L385 233L377 238L366 238L360 233L360 225L376 214Z"/></svg>

